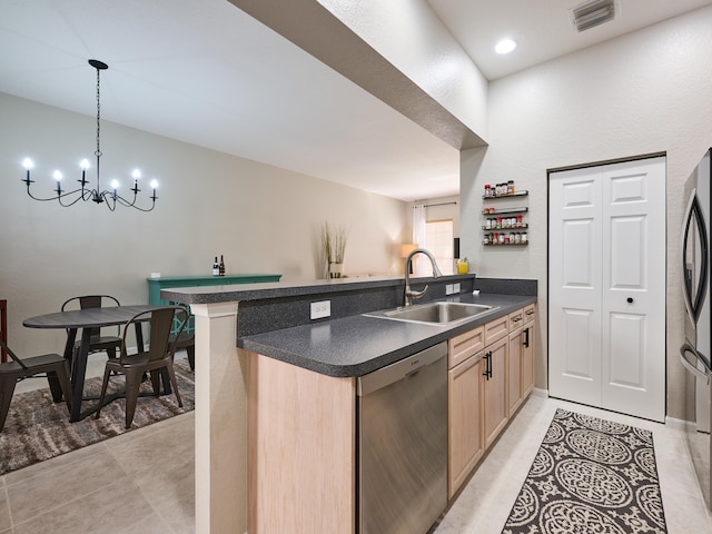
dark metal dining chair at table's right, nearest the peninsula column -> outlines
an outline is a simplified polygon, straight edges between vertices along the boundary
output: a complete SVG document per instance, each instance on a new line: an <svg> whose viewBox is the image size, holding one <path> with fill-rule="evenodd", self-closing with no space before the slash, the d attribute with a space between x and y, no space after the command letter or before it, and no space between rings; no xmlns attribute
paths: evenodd
<svg viewBox="0 0 712 534"><path fill-rule="evenodd" d="M171 340L170 332L174 327L174 317L179 318L179 327L176 332L176 337ZM154 395L158 396L160 394L159 372L166 369L170 378L172 392L176 394L178 406L182 407L176 373L174 370L174 356L176 354L176 339L180 337L180 333L186 327L188 317L186 308L181 306L166 306L140 313L126 323L119 357L109 359L106 364L103 383L101 384L101 396L99 397L99 406L96 414L97 418L99 418L101 414L101 407L103 406L103 399L109 385L109 375L111 373L121 374L126 377L126 428L130 428L134 422L144 373L150 373ZM131 325L146 320L148 320L150 325L150 344L148 350L128 354L127 333L131 330Z"/></svg>

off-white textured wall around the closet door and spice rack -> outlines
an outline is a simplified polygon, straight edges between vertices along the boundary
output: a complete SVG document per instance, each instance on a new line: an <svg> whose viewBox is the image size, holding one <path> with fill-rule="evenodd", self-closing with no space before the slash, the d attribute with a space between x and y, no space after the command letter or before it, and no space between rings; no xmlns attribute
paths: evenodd
<svg viewBox="0 0 712 534"><path fill-rule="evenodd" d="M682 185L712 146L712 7L503 78L490 86L490 147L462 157L463 250L479 276L540 280L540 360L546 387L546 170L668 154L668 415L682 417L679 236ZM469 177L474 176L474 179ZM525 249L481 245L484 184L528 189ZM550 325L556 327L556 325Z"/></svg>

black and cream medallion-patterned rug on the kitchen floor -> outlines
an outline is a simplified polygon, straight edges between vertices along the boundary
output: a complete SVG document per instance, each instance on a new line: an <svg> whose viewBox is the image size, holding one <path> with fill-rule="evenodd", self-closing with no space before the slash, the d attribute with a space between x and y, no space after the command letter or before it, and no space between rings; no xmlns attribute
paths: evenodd
<svg viewBox="0 0 712 534"><path fill-rule="evenodd" d="M503 534L665 534L653 435L557 409Z"/></svg>

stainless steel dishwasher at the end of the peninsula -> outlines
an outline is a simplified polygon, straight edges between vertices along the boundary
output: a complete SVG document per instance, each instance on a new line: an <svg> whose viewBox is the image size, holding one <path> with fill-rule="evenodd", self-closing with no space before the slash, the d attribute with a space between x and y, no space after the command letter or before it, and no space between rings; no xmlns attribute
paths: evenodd
<svg viewBox="0 0 712 534"><path fill-rule="evenodd" d="M447 344L358 378L358 532L424 534L447 505Z"/></svg>

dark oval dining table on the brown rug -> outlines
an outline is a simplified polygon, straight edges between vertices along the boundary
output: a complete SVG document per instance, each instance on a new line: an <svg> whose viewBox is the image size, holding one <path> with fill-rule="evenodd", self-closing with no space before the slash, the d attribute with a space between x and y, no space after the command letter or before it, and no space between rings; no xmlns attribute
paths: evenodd
<svg viewBox="0 0 712 534"><path fill-rule="evenodd" d="M81 402L85 389L85 378L87 374L87 359L89 357L89 342L91 337L91 328L101 328L105 326L123 325L134 316L144 313L151 312L154 309L164 308L161 305L135 305L135 306L107 306L101 308L86 308L86 309L72 309L67 312L56 312L51 314L38 315L24 319L22 325L28 328L46 328L46 329L66 329L67 343L65 345L65 358L70 363L70 376L71 376L71 412L69 421L76 423L83 419L88 415L95 413L98 408L98 403L86 409L81 411ZM146 320L149 320L150 316L147 316ZM79 350L76 353L76 360L72 360L75 356L75 343L77 340L77 333L81 329L81 343ZM138 350L144 349L144 332L140 323L136 323L136 346ZM164 393L170 393L169 382L164 378ZM108 404L118 395L108 396L105 404Z"/></svg>

